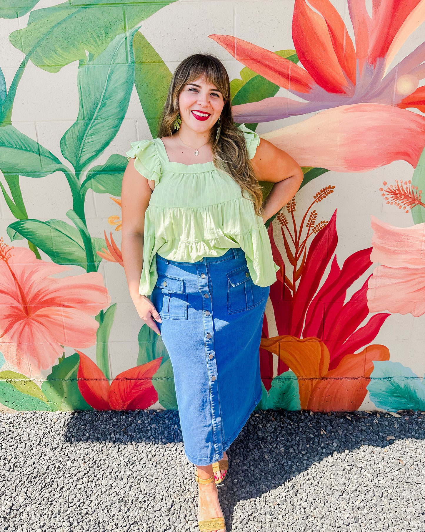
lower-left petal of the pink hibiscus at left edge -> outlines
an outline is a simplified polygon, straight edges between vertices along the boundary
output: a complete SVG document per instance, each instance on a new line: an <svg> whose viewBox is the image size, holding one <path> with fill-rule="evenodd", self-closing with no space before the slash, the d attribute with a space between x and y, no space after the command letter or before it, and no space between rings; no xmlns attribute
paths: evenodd
<svg viewBox="0 0 425 532"><path fill-rule="evenodd" d="M35 320L17 321L6 334L2 332L0 351L5 360L29 377L39 376L40 370L51 368L63 353L52 332Z"/></svg>

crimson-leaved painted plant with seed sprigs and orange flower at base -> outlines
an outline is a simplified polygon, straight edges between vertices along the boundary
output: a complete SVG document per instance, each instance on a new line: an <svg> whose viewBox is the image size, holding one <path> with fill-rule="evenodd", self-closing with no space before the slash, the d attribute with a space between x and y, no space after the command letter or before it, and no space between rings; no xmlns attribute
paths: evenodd
<svg viewBox="0 0 425 532"><path fill-rule="evenodd" d="M270 286L278 336L268 338L265 319L260 346L261 376L269 389L273 377L270 353L278 355L278 374L291 369L298 377L301 409L316 412L360 408L373 360L389 360L387 347L367 345L390 314L375 314L361 326L369 314L370 277L345 301L347 289L372 265L371 248L353 253L340 268L336 255L333 257L338 242L336 212L327 223L318 221L316 210L312 210L334 188L325 187L314 196L299 229L294 215L295 200L286 206L291 221L284 214L278 217L292 275L287 273L275 243L273 226L269 226L273 258L281 266L276 282ZM305 236L304 229L307 229ZM320 286L331 260L328 276ZM362 351L355 353L359 349Z"/></svg>

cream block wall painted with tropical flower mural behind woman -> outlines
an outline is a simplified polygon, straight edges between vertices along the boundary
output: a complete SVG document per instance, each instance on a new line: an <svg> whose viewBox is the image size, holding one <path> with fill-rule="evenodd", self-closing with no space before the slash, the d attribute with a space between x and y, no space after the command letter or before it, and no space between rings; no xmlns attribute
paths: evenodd
<svg viewBox="0 0 425 532"><path fill-rule="evenodd" d="M425 410L425 0L0 0L0 410L176 409L120 196L196 52L304 170L266 224L259 408Z"/></svg>

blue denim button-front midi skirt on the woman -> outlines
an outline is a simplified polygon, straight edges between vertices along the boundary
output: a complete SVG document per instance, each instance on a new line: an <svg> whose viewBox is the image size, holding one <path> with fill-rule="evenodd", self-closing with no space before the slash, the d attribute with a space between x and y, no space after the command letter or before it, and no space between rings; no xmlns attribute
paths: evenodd
<svg viewBox="0 0 425 532"><path fill-rule="evenodd" d="M261 400L259 347L270 287L251 279L242 249L197 262L156 254L150 299L171 359L184 451L223 458Z"/></svg>

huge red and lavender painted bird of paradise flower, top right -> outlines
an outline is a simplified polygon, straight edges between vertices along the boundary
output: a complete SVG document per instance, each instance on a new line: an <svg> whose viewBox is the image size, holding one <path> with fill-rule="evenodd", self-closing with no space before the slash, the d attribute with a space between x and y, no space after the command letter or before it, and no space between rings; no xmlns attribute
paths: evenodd
<svg viewBox="0 0 425 532"><path fill-rule="evenodd" d="M309 5L310 4L310 5ZM304 66L230 35L210 35L235 59L304 102L271 97L236 105L241 122L267 122L339 105L380 103L425 112L425 43L388 71L405 40L425 21L424 0L348 0L355 46L329 0L295 0L292 39Z"/></svg>

